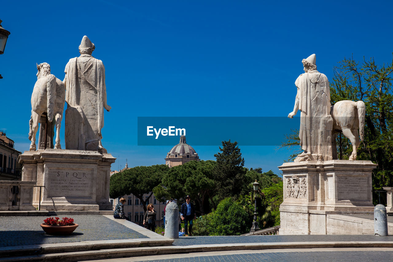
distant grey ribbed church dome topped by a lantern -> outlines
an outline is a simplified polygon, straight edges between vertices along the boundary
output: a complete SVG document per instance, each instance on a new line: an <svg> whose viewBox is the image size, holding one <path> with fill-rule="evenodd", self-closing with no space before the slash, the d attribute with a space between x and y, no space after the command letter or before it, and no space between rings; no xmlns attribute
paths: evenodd
<svg viewBox="0 0 393 262"><path fill-rule="evenodd" d="M185 162L196 160L199 161L198 153L195 149L186 143L185 136L180 136L180 142L167 153L165 164L170 168L180 166Z"/></svg>

